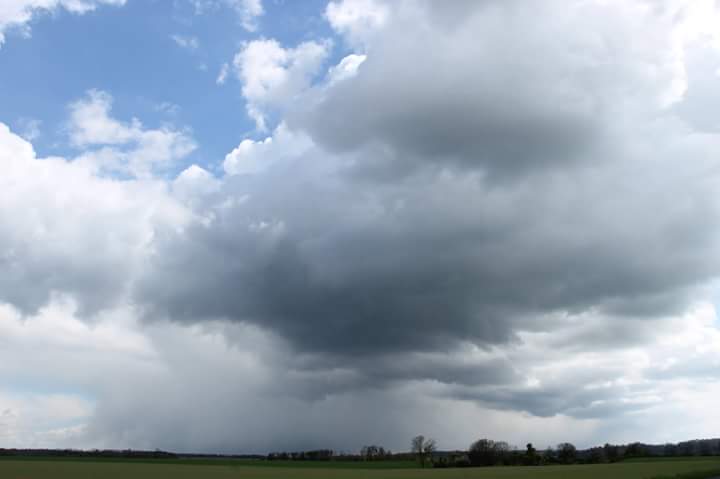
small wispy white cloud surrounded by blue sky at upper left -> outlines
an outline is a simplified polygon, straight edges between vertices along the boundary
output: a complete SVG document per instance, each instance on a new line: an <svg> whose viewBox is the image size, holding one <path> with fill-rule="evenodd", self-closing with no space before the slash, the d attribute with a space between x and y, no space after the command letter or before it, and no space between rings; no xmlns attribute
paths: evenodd
<svg viewBox="0 0 720 479"><path fill-rule="evenodd" d="M111 108L112 97L98 90L70 105L71 142L80 148L100 147L84 152L78 161L148 178L196 148L187 132L170 127L145 129L136 118L124 123L110 116Z"/></svg>

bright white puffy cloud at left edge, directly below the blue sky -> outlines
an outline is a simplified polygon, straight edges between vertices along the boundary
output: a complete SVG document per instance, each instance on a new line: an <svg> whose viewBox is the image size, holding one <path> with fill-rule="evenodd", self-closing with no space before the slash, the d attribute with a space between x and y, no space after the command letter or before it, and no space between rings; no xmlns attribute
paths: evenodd
<svg viewBox="0 0 720 479"><path fill-rule="evenodd" d="M83 311L112 304L141 267L154 230L186 216L164 185L103 179L82 161L37 158L2 124L0 159L0 301L26 312L57 293L73 295Z"/></svg>

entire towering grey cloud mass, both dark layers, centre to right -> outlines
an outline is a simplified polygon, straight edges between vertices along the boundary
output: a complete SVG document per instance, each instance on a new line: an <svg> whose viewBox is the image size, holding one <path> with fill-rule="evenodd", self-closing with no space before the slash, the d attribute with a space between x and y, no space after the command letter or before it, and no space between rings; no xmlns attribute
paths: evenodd
<svg viewBox="0 0 720 479"><path fill-rule="evenodd" d="M675 53L658 48L675 45L672 15L463 5L447 18L399 5L354 75L305 79L293 95L277 93L292 50L246 45L246 98L289 102L284 129L310 143L245 140L226 157L220 197L243 200L201 203L202 221L158 240L166 253L136 289L148 317L255 324L298 354L347 364L345 387L384 384L371 372L385 368L391 382L479 388L451 394L540 416L625 410L608 399L616 391L568 395L562 382L493 389L482 365L475 376L390 366L468 343L506 350L525 332L569 327L565 316L608 325L573 326L564 347L576 354L632 348L707 299L718 270L707 176L717 145L674 113L689 95L676 91ZM671 93L681 96L668 103ZM193 280L172 281L182 271ZM493 361L489 371L529 380Z"/></svg>

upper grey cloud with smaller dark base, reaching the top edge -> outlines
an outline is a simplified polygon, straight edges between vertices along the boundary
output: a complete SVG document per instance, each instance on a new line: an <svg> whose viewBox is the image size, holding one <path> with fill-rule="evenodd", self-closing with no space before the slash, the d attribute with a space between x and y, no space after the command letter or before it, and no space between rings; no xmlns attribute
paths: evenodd
<svg viewBox="0 0 720 479"><path fill-rule="evenodd" d="M648 114L682 80L667 34L673 17L635 3L437 8L453 9L462 20L448 29L436 9L398 4L353 81L298 104L290 126L334 151L383 143L414 161L506 176L582 161L593 143L611 141L612 118ZM552 20L532 20L539 16ZM611 16L622 21L603 20ZM630 41L634 50L623 51ZM405 161L395 166L412 166Z"/></svg>

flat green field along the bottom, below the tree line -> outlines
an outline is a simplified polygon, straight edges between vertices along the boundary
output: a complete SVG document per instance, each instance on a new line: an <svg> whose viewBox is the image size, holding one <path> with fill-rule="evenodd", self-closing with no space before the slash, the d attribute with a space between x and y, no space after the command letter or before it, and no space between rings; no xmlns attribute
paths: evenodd
<svg viewBox="0 0 720 479"><path fill-rule="evenodd" d="M258 464L258 463L254 463ZM148 463L132 461L3 459L2 479L643 479L673 477L675 474L700 471L695 477L720 477L720 458L674 461L645 461L619 464L492 467L467 469L412 469L394 464L393 469L362 467L358 463L330 463L335 467L306 465L268 467L252 462L208 461L184 463ZM339 467L338 467L339 466ZM404 464L408 466L408 464ZM713 473L714 471L714 473Z"/></svg>

